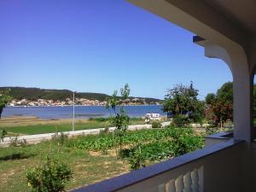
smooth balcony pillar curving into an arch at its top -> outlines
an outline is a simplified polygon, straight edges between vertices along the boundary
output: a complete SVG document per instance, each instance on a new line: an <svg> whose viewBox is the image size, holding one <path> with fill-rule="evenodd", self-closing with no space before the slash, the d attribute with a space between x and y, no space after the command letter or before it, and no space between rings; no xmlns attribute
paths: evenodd
<svg viewBox="0 0 256 192"><path fill-rule="evenodd" d="M207 57L218 58L227 63L233 75L234 138L251 143L253 127L253 74L247 55L241 46L226 44L205 45Z"/></svg>

